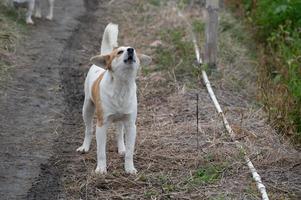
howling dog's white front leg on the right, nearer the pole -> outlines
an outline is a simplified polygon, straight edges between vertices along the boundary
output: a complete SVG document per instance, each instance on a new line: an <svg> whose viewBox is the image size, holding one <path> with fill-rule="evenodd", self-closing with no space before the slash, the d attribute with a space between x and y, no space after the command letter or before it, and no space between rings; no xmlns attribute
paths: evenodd
<svg viewBox="0 0 301 200"><path fill-rule="evenodd" d="M126 151L124 157L125 172L129 174L136 174L137 170L134 167L133 155L135 150L136 140L136 125L135 122L126 122L124 124L126 133Z"/></svg>

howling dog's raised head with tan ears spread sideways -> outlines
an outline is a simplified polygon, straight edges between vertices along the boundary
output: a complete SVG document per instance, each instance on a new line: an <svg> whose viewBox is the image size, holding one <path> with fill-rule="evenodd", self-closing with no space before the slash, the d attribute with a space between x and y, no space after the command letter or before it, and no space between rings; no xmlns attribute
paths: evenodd
<svg viewBox="0 0 301 200"><path fill-rule="evenodd" d="M136 76L141 65L148 65L151 58L144 54L137 54L132 47L118 47L110 54L98 55L91 58L91 62L97 66L104 67L115 76Z"/></svg>

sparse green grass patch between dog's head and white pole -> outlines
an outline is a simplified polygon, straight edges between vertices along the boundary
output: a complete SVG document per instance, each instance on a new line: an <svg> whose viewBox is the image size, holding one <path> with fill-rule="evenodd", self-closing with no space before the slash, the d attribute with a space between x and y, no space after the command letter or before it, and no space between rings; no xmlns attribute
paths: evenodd
<svg viewBox="0 0 301 200"><path fill-rule="evenodd" d="M159 37L163 46L155 48L156 67L144 69L145 74L163 71L169 80L180 81L193 87L197 83L200 69L194 67L194 48L185 28L169 28L161 31Z"/></svg>

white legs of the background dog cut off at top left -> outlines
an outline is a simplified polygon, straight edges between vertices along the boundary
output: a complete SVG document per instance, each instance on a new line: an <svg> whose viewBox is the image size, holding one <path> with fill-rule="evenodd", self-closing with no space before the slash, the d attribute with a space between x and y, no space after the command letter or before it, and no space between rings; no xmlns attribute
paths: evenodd
<svg viewBox="0 0 301 200"><path fill-rule="evenodd" d="M35 10L35 17L36 18L41 18L42 17L42 13L41 13L41 0L12 0L13 5L15 7L26 7L27 13L26 13L26 23L27 24L34 24L34 22L32 21L32 14ZM53 18L53 6L54 6L54 0L48 0L49 3L49 13L46 16L46 18L48 20L52 20Z"/></svg>

